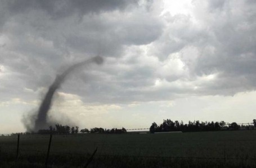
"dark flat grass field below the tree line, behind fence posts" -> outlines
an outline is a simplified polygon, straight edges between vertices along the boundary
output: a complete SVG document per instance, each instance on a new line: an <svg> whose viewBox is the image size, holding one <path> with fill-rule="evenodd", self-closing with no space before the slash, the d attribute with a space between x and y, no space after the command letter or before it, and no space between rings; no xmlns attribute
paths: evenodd
<svg viewBox="0 0 256 168"><path fill-rule="evenodd" d="M50 135L0 137L0 167L43 167ZM53 135L48 165L83 167L256 167L256 131Z"/></svg>

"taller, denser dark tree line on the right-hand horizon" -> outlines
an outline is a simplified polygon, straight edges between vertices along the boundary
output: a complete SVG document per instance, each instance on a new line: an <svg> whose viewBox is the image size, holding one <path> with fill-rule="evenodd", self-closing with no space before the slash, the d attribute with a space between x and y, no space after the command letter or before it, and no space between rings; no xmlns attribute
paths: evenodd
<svg viewBox="0 0 256 168"><path fill-rule="evenodd" d="M182 121L177 120L173 122L170 119L166 119L160 125L155 122L150 126L150 133L154 132L197 132L197 131L217 131L217 130L239 130L239 129L255 129L256 119L253 120L254 128L250 125L239 125L236 122L226 124L226 122L200 122L199 120L194 122L188 122L184 124Z"/></svg>

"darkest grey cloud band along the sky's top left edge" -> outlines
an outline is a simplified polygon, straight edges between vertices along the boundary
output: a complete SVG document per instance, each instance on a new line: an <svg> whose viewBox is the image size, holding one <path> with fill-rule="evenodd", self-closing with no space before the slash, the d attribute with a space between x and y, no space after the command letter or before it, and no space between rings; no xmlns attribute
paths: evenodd
<svg viewBox="0 0 256 168"><path fill-rule="evenodd" d="M75 0L75 1L32 1L32 0L11 0L4 1L8 12L12 15L30 12L34 10L42 10L46 12L53 20L69 17L70 15L83 16L87 13L99 13L113 10L124 10L129 5L137 5L136 0Z"/></svg>

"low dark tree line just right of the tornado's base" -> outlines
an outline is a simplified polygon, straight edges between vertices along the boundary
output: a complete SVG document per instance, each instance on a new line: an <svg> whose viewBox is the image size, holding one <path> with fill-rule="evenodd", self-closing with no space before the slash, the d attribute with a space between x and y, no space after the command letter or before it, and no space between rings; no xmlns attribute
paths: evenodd
<svg viewBox="0 0 256 168"><path fill-rule="evenodd" d="M55 127L50 126L49 129L40 129L38 133L40 134L77 134L79 132L79 127L70 127L69 125L56 124ZM80 130L80 133L108 133L108 134L121 134L126 133L125 128L117 129L104 129L104 128L91 128L91 130L84 128Z"/></svg>

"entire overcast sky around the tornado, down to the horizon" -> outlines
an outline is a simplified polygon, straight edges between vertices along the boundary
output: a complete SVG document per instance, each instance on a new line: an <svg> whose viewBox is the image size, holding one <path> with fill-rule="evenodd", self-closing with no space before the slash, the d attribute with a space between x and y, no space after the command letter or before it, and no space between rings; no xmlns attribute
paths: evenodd
<svg viewBox="0 0 256 168"><path fill-rule="evenodd" d="M0 1L0 133L50 116L82 128L256 119L256 1ZM23 122L22 122L23 121Z"/></svg>

